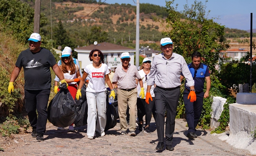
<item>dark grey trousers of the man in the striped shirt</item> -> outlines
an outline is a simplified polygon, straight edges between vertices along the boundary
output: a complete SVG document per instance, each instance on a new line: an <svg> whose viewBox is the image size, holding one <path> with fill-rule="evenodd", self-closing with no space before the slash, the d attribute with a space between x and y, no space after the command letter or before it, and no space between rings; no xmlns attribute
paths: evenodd
<svg viewBox="0 0 256 156"><path fill-rule="evenodd" d="M160 88L154 88L156 104L156 129L158 141L164 142L164 123L166 111L165 141L166 145L172 145L175 126L175 117L179 101L179 88L166 91Z"/></svg>

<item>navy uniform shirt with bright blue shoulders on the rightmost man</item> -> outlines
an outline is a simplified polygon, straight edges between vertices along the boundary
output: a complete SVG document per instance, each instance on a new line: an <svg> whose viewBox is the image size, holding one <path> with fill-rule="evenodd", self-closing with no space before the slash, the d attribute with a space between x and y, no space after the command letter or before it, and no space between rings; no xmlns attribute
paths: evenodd
<svg viewBox="0 0 256 156"><path fill-rule="evenodd" d="M195 91L201 92L205 84L205 77L210 76L208 66L206 64L200 63L200 66L197 70L193 67L192 63L188 64L187 66L189 67L189 71L191 72L191 75L195 81ZM183 76L182 73L181 75ZM185 83L187 83L187 80ZM187 85L185 85L185 88L190 90Z"/></svg>

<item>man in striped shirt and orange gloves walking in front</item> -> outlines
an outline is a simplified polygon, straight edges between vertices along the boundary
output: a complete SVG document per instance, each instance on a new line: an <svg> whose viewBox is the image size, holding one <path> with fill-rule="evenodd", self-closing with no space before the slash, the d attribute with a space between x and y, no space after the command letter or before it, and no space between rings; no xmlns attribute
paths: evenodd
<svg viewBox="0 0 256 156"><path fill-rule="evenodd" d="M179 86L181 85L181 72L187 80L187 87L190 88L188 99L191 102L196 100L194 80L187 67L185 59L173 53L173 42L170 38L162 38L160 41L162 53L154 56L150 74L148 76L148 87L146 91L146 102L152 100L150 88L156 84L154 89L156 104L156 128L158 144L156 149L164 148L164 122L166 111L165 141L166 149L173 151L173 133L175 126L176 110L180 95Z"/></svg>

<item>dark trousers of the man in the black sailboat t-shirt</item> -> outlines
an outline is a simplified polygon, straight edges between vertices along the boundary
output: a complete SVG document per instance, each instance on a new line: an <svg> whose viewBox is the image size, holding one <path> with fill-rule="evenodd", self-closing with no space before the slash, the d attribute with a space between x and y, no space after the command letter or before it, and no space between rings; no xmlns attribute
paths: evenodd
<svg viewBox="0 0 256 156"><path fill-rule="evenodd" d="M29 123L37 133L44 134L47 122L47 105L50 89L27 90L25 89L25 110L28 113ZM38 118L37 118L37 113Z"/></svg>

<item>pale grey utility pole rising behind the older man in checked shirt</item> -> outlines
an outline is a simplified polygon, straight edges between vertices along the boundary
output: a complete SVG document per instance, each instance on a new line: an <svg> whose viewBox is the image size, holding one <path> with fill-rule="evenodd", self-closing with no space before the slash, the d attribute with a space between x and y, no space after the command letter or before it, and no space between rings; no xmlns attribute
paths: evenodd
<svg viewBox="0 0 256 156"><path fill-rule="evenodd" d="M135 66L139 67L140 59L139 59L139 46L140 46L140 0L137 0L137 7L136 7L136 53L135 53Z"/></svg>

